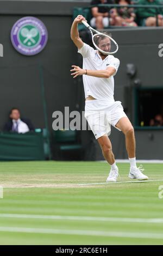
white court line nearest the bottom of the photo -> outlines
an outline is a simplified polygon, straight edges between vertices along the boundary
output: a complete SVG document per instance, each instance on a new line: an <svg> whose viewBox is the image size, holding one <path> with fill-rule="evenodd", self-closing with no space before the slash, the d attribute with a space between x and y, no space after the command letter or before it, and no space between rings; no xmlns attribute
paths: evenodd
<svg viewBox="0 0 163 256"><path fill-rule="evenodd" d="M161 233L133 233L121 231L95 231L95 230L67 230L47 228L17 228L0 227L0 231L11 233L37 233L37 234L60 234L60 235L84 235L84 236L106 236L106 237L129 237L138 239L163 239Z"/></svg>

